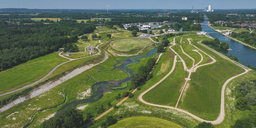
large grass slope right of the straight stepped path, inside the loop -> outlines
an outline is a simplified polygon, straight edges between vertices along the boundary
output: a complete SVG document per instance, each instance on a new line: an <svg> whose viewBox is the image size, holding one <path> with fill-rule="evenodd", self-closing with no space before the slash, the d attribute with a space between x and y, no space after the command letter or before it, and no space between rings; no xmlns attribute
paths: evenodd
<svg viewBox="0 0 256 128"><path fill-rule="evenodd" d="M200 36L194 35L194 37L198 38L197 40L200 39ZM197 42L192 42L192 44L213 56L217 62L200 67L195 73L192 73L189 87L182 96L178 108L206 120L215 120L220 112L220 94L224 82L244 70Z"/></svg>

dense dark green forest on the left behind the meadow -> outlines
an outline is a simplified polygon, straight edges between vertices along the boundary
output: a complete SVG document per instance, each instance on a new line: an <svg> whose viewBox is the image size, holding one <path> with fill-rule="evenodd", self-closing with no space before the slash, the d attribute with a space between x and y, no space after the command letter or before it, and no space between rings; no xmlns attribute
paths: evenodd
<svg viewBox="0 0 256 128"><path fill-rule="evenodd" d="M54 52L95 28L93 23L78 23L76 20L60 20L54 24L0 21L0 69Z"/></svg>

